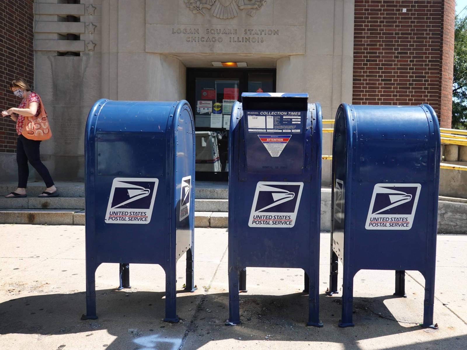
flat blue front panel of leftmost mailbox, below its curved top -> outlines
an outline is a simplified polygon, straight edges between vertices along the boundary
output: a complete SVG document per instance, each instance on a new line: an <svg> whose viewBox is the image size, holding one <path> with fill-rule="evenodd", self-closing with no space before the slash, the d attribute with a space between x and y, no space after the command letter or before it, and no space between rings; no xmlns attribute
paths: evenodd
<svg viewBox="0 0 467 350"><path fill-rule="evenodd" d="M165 137L96 135L94 242L100 262L163 263L170 218Z"/></svg>

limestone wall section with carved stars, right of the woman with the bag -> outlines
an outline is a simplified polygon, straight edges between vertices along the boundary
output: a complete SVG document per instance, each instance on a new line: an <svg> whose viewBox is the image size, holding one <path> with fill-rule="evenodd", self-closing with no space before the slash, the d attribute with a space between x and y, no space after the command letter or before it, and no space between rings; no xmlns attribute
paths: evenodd
<svg viewBox="0 0 467 350"><path fill-rule="evenodd" d="M77 181L84 179L87 114L101 95L101 5L61 2L34 5L35 86L53 132L41 156L55 181Z"/></svg>

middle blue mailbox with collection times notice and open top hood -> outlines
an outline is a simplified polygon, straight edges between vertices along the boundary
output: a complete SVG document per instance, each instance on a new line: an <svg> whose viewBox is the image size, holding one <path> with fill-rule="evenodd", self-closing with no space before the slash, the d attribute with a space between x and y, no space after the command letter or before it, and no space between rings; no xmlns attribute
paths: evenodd
<svg viewBox="0 0 467 350"><path fill-rule="evenodd" d="M319 320L321 106L308 94L243 93L229 135L229 320L240 323L246 267L305 271L310 326Z"/></svg>

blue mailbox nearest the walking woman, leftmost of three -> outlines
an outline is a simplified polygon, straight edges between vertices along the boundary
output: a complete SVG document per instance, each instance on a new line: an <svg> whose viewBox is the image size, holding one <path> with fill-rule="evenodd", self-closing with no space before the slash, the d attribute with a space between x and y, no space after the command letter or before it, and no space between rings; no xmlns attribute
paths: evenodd
<svg viewBox="0 0 467 350"><path fill-rule="evenodd" d="M193 291L193 114L187 101L100 99L85 130L86 315L95 319L95 272L128 263L165 271L165 321L178 322L176 263L186 252L186 288Z"/></svg>

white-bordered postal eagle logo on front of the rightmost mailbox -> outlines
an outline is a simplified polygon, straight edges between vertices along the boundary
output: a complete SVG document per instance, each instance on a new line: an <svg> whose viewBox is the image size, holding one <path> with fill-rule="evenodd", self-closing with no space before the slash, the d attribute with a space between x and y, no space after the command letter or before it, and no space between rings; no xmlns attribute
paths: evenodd
<svg viewBox="0 0 467 350"><path fill-rule="evenodd" d="M377 183L368 209L367 230L410 230L417 210L419 183Z"/></svg>

